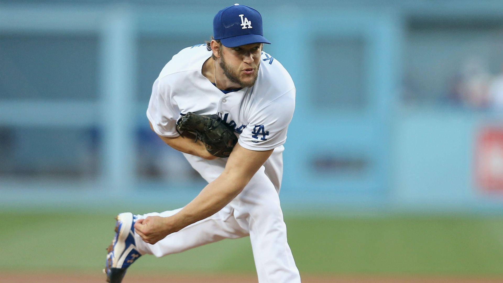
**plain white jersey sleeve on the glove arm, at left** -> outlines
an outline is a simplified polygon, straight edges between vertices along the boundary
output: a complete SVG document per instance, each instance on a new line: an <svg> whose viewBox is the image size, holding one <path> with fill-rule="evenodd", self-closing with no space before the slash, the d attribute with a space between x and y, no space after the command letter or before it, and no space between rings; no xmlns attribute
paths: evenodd
<svg viewBox="0 0 503 283"><path fill-rule="evenodd" d="M158 135L166 137L177 137L177 119L180 111L176 109L170 99L169 87L155 80L152 86L152 95L148 103L147 118L152 124L152 128Z"/></svg>

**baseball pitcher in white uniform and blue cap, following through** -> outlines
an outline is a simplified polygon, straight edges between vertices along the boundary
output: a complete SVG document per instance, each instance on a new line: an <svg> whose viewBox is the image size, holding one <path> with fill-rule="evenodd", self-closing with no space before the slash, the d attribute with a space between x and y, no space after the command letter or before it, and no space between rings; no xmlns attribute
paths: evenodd
<svg viewBox="0 0 503 283"><path fill-rule="evenodd" d="M119 214L108 282L121 282L141 255L245 236L259 282L300 282L278 195L295 86L264 43L260 13L234 4L216 14L210 42L181 50L160 72L147 109L150 127L208 185L183 208Z"/></svg>

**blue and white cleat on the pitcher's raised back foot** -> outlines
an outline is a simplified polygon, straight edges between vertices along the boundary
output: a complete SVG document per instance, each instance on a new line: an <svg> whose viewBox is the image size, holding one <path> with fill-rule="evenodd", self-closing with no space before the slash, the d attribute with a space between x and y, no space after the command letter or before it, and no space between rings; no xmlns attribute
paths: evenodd
<svg viewBox="0 0 503 283"><path fill-rule="evenodd" d="M134 223L137 218L132 213L121 213L116 217L115 237L107 248L107 263L103 270L107 282L120 283L126 269L141 256L134 240Z"/></svg>

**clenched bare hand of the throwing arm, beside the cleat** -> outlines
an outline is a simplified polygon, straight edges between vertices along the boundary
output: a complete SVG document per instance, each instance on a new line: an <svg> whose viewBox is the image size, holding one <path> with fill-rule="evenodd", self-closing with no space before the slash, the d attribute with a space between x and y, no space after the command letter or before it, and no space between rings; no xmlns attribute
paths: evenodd
<svg viewBox="0 0 503 283"><path fill-rule="evenodd" d="M152 245L175 232L170 227L169 219L160 216L149 216L145 219L139 219L134 224L134 229L145 243Z"/></svg>

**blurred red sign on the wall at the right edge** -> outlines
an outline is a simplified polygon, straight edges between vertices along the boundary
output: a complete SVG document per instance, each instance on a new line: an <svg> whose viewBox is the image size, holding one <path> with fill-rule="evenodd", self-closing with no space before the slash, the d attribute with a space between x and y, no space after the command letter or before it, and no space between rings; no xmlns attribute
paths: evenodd
<svg viewBox="0 0 503 283"><path fill-rule="evenodd" d="M484 191L503 193L503 128L484 128L477 139L476 175Z"/></svg>

